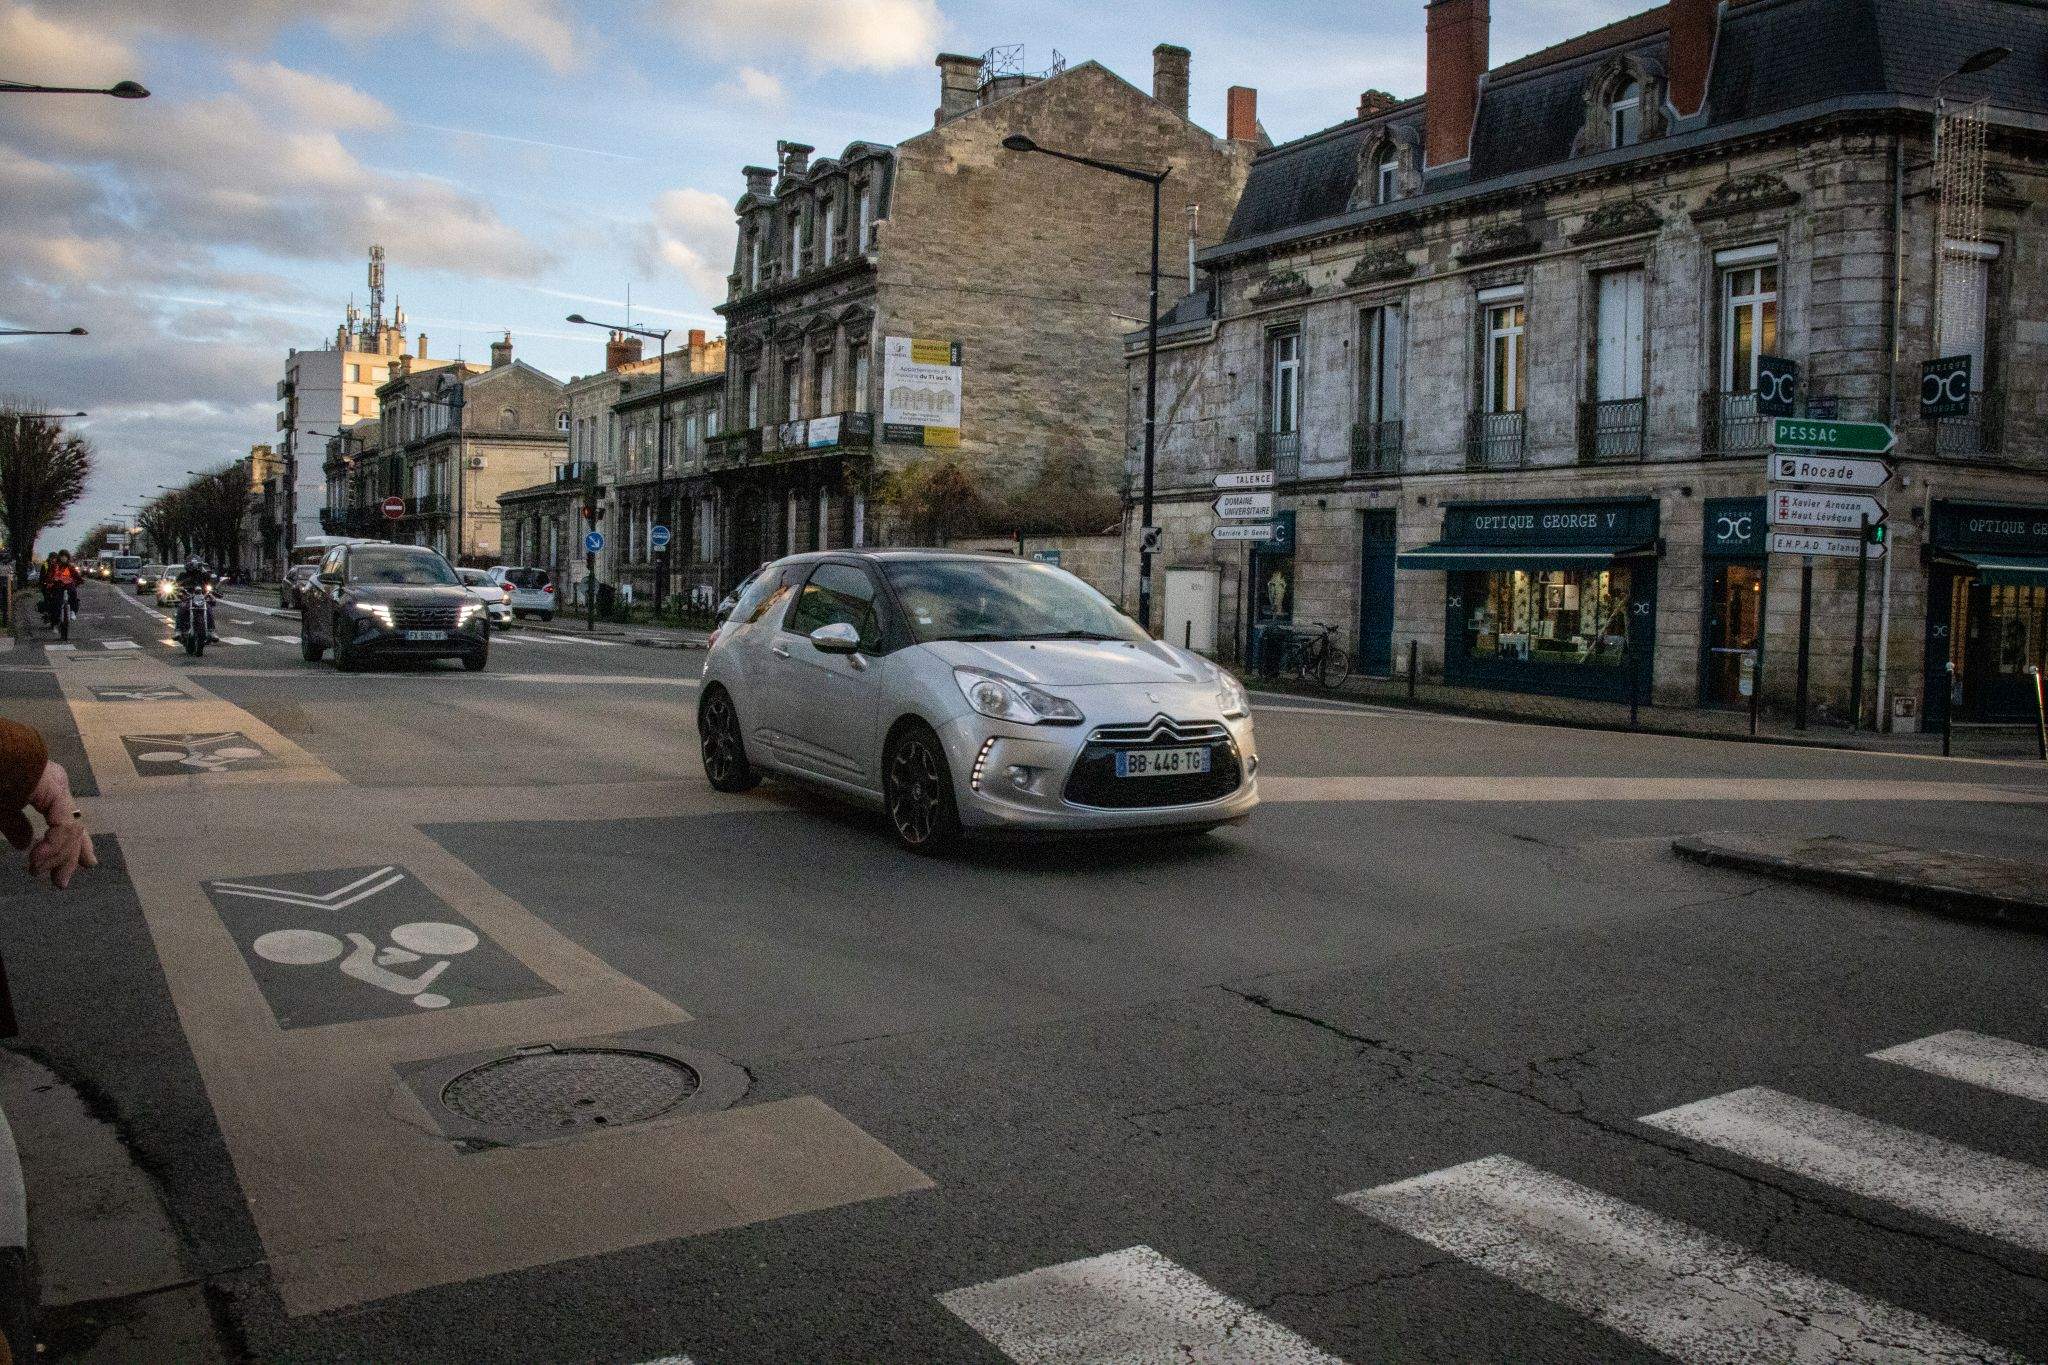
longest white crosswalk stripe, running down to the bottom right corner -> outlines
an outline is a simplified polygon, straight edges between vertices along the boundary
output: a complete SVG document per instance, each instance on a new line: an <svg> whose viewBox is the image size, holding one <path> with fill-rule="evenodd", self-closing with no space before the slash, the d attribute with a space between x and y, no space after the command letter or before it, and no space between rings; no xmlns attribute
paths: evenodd
<svg viewBox="0 0 2048 1365"><path fill-rule="evenodd" d="M2021 1359L1511 1156L1339 1203L1681 1361Z"/></svg>

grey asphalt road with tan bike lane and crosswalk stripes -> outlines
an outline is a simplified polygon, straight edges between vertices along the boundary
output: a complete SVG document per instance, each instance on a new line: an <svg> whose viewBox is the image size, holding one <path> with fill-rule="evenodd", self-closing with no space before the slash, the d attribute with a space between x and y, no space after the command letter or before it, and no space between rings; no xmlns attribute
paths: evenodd
<svg viewBox="0 0 2048 1365"><path fill-rule="evenodd" d="M1243 827L934 862L711 794L696 653L344 677L152 616L0 653L111 831L61 898L0 876L0 950L231 1353L2048 1357L2048 939L1667 847L2048 864L2040 765L1274 700ZM578 1040L707 1101L539 1146L430 1103Z"/></svg>

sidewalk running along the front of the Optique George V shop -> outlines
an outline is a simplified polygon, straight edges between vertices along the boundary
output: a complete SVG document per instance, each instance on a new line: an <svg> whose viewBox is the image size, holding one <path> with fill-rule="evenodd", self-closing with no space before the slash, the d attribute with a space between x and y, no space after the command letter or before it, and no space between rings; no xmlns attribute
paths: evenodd
<svg viewBox="0 0 2048 1365"><path fill-rule="evenodd" d="M1792 718L1765 710L1757 716L1757 733L1749 733L1747 710L1710 710L1692 706L1640 706L1636 722L1628 720L1624 702L1589 702L1565 696L1528 692L1495 692L1491 688L1452 688L1417 679L1409 698L1405 677L1350 677L1335 692L1290 677L1245 677L1253 692L1278 692L1303 698L1372 702L1376 706L1413 706L1460 716L1522 720L1528 724L1561 724L1583 731L1634 731L1640 735L1673 735L1683 739L1739 739L1765 745L1802 745L1812 749L1870 749L1878 753L1939 755L1942 735L1874 735L1843 724L1808 720L1804 731ZM2032 759L2040 761L2034 726L1958 726L1952 753L1970 759Z"/></svg>

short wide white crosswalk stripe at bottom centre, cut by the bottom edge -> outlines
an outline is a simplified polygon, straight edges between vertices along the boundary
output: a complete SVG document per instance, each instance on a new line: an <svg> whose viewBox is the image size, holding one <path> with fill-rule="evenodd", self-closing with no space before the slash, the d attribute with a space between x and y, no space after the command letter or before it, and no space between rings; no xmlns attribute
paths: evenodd
<svg viewBox="0 0 2048 1365"><path fill-rule="evenodd" d="M991 1279L938 1302L1020 1365L1337 1365L1151 1246Z"/></svg>

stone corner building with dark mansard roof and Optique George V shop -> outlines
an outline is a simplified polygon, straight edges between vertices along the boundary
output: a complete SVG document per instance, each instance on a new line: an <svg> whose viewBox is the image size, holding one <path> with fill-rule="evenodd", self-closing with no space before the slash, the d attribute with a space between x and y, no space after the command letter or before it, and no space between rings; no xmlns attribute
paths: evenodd
<svg viewBox="0 0 2048 1365"><path fill-rule="evenodd" d="M2048 639L2048 10L1671 0L1493 70L1487 27L1430 4L1425 94L1264 151L1202 254L1161 340L1153 626L1237 657L1329 622L1366 671L1415 643L1454 684L1659 706L1741 706L1759 669L1792 708L1782 397L1898 430L1864 714L1939 712L1950 663L1968 714L2015 710ZM1968 411L1923 420L1937 356L1970 356ZM1143 334L1126 360L1135 469ZM1264 544L1214 538L1233 471L1274 475ZM1810 567L1839 718L1858 561Z"/></svg>

